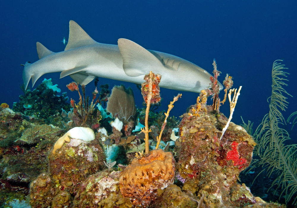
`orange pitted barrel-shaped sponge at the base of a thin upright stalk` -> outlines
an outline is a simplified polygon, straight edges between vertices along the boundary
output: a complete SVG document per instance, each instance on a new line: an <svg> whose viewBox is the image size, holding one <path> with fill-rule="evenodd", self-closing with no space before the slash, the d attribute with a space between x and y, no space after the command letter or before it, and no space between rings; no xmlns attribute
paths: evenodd
<svg viewBox="0 0 297 208"><path fill-rule="evenodd" d="M171 185L175 174L175 160L171 152L162 149L150 155L132 160L131 165L121 171L120 191L130 197L134 205L146 207L157 198L157 189Z"/></svg>

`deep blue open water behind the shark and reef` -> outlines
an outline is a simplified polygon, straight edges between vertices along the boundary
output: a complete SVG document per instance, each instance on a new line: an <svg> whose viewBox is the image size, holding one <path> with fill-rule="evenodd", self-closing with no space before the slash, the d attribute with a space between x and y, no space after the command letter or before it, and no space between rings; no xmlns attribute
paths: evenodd
<svg viewBox="0 0 297 208"><path fill-rule="evenodd" d="M234 87L242 85L233 122L251 120L256 125L268 112L267 98L271 94L271 68L276 59L283 59L293 96L288 99L287 117L297 110L296 55L297 55L297 1L3 1L0 4L0 102L19 100L20 84L26 61L38 60L36 42L49 50L64 50L60 40L68 40L69 20L76 21L94 40L117 44L119 38L132 40L144 48L170 53L187 59L212 72L217 60L222 72L234 78ZM59 73L43 75L59 84L62 92L78 100L66 84L72 81L59 79ZM99 78L99 85L109 83L110 89L121 82ZM31 85L31 83L30 83ZM143 102L135 84L125 83L134 89L136 104ZM89 94L93 82L87 85ZM177 91L161 89L162 107ZM182 92L170 115L179 116L196 102L198 94ZM221 94L221 97L223 93ZM210 102L210 101L209 101ZM229 106L221 107L229 116ZM293 139L296 131L290 132Z"/></svg>

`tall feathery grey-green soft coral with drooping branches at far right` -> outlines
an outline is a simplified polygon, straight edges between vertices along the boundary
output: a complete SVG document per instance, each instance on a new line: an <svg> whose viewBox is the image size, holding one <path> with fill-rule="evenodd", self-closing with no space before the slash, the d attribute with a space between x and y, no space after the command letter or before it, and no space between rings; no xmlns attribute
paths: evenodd
<svg viewBox="0 0 297 208"><path fill-rule="evenodd" d="M283 86L287 86L284 81L287 72L284 72L285 65L277 63L276 60L272 67L272 93L269 103L269 113L266 114L262 123L255 132L256 142L259 144L256 154L260 160L254 162L254 166L263 167L267 171L268 177L272 173L278 177L272 182L271 187L277 185L280 188L281 197L285 195L286 203L297 193L297 145L285 145L285 141L290 139L289 133L280 128L279 124L285 124L285 119L281 111L285 111L288 106L287 93ZM268 98L269 100L269 98ZM293 204L297 204L297 198Z"/></svg>

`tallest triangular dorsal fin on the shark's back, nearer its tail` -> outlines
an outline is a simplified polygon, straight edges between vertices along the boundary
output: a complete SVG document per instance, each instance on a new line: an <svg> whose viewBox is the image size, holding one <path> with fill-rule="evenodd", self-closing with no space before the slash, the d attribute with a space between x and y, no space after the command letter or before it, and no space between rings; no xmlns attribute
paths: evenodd
<svg viewBox="0 0 297 208"><path fill-rule="evenodd" d="M64 51L85 45L93 45L93 40L75 21L69 22L69 39Z"/></svg>

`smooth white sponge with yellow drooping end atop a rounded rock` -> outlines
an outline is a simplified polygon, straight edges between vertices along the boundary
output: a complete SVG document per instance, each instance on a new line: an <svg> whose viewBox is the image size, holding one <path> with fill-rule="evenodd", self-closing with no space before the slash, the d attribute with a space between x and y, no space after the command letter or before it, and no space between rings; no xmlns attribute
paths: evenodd
<svg viewBox="0 0 297 208"><path fill-rule="evenodd" d="M53 147L53 155L56 154L56 150L60 149L64 142L70 142L70 138L81 139L83 141L92 141L95 139L94 131L87 127L74 127L67 131L63 136L61 136L55 143Z"/></svg>

